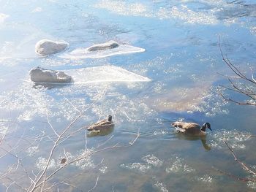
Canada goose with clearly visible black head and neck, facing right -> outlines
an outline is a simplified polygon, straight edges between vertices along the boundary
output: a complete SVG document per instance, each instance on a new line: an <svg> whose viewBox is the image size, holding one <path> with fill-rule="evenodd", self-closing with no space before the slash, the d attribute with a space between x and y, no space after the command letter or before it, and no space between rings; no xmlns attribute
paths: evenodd
<svg viewBox="0 0 256 192"><path fill-rule="evenodd" d="M200 127L197 123L186 123L186 122L174 122L171 126L175 127L176 130L184 133L190 134L195 136L205 136L206 135L206 128L211 130L210 123L203 123L203 126ZM212 130L211 130L212 131Z"/></svg>

